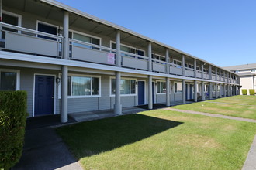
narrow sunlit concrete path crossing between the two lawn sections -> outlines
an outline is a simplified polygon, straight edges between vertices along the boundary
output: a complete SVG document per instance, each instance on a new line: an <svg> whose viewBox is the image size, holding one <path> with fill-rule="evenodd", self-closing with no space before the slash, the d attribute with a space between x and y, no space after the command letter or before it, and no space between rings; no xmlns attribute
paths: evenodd
<svg viewBox="0 0 256 170"><path fill-rule="evenodd" d="M209 117L220 117L220 118L224 118L224 119L231 119L231 120L236 120L236 121L247 121L247 122L256 123L256 120L254 120L254 119L225 116L225 115L222 115L222 114L209 114L209 113L204 113L204 112L199 112L199 111L182 110L182 109L175 109L175 108L170 108L170 107L164 108L164 110L173 110L173 111L178 111L178 112L187 113L187 114L200 114L200 115L209 116Z"/></svg>

